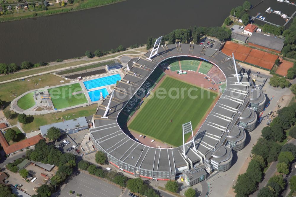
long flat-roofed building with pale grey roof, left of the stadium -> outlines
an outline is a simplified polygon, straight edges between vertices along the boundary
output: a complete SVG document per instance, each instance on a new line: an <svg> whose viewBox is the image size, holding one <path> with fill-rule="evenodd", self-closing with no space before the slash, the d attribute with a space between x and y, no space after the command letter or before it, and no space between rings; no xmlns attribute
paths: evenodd
<svg viewBox="0 0 296 197"><path fill-rule="evenodd" d="M88 129L89 124L86 121L85 117L79 117L71 120L66 120L64 122L52 123L49 125L44 125L40 127L41 134L43 136L47 135L47 130L51 127L59 128L61 133L73 134L78 131Z"/></svg>

